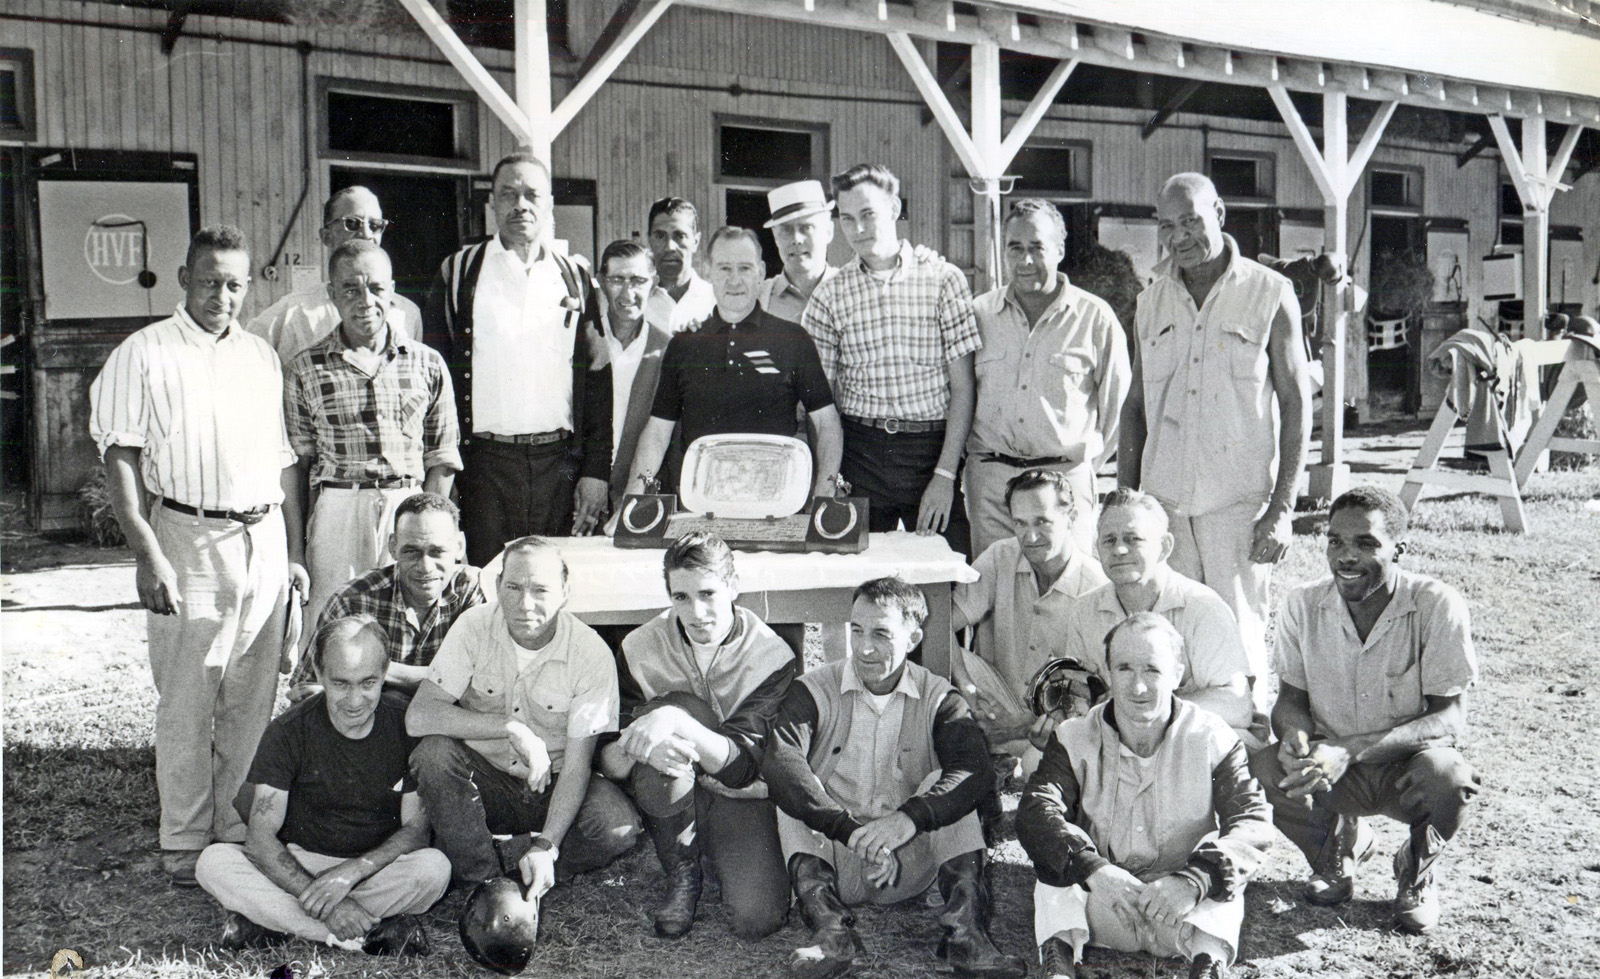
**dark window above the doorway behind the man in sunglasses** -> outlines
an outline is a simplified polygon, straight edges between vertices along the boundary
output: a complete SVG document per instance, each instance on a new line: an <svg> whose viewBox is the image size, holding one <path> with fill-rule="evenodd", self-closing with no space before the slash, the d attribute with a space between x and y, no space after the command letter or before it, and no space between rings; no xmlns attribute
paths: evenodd
<svg viewBox="0 0 1600 979"><path fill-rule="evenodd" d="M322 78L322 152L346 162L475 170L472 93Z"/></svg>

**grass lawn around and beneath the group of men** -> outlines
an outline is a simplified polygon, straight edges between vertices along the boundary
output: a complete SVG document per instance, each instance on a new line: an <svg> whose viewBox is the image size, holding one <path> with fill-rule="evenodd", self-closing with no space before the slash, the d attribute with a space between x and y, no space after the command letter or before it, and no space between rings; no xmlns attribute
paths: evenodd
<svg viewBox="0 0 1600 979"><path fill-rule="evenodd" d="M1467 752L1485 789L1446 851L1445 921L1426 937L1387 928L1392 875L1376 859L1341 909L1301 904L1306 867L1278 841L1248 893L1243 979L1592 977L1600 976L1600 515L1584 502L1595 474L1533 477L1528 536L1499 529L1483 497L1429 496L1419 504L1406 565L1467 597L1482 681L1470 702ZM1322 576L1325 517L1302 513L1278 589ZM14 552L13 552L14 553ZM8 555L8 563L13 555ZM43 566L35 561L32 566ZM16 568L16 565L13 565ZM131 569L101 574L131 579ZM120 579L118 579L120 581ZM125 582L126 584L126 582ZM8 582L10 585L10 582ZM131 590L126 589L126 590ZM102 595L54 601L98 605ZM304 942L245 955L210 947L221 910L198 891L176 891L155 853L150 726L155 694L144 667L142 616L106 605L61 640L26 632L18 603L5 616L5 953L6 973L43 973L58 949L83 955L96 976L267 976L288 963L306 976L486 976L454 934L459 896L427 917L434 953L373 960ZM66 619L59 611L58 619ZM74 613L75 614L75 613ZM109 622L106 625L104 622ZM56 641L59 649L50 643ZM93 648L90 648L93 646ZM1008 800L1013 805L1014 800ZM1403 829L1378 821L1381 854ZM1032 945L1032 873L1014 840L994 854L995 939ZM755 944L730 937L726 913L706 905L691 936L661 942L650 907L656 859L635 849L603 873L558 888L530 976L746 979L782 973L805 941L798 915ZM862 909L858 928L869 979L931 973L934 912L920 902ZM1181 963L1093 952L1085 976L1182 976Z"/></svg>

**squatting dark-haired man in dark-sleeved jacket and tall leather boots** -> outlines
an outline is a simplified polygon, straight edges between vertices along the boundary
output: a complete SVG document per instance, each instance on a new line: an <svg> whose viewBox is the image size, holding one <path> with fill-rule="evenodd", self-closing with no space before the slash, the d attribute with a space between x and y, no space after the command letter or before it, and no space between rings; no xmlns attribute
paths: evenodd
<svg viewBox="0 0 1600 979"><path fill-rule="evenodd" d="M938 955L958 976L1022 976L1027 965L989 939L978 800L989 744L947 680L907 662L928 600L899 577L856 589L850 659L790 685L763 773L811 944L789 969L846 973L861 947L851 904L894 904L938 880Z"/></svg>

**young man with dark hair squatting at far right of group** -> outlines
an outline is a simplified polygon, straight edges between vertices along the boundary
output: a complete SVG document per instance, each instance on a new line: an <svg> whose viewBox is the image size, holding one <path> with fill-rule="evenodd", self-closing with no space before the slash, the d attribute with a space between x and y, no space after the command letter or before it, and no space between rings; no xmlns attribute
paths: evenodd
<svg viewBox="0 0 1600 979"><path fill-rule="evenodd" d="M1342 904L1373 849L1362 816L1411 827L1395 853L1395 926L1438 921L1430 872L1461 827L1478 776L1456 742L1477 680L1467 603L1400 568L1410 515L1394 493L1357 486L1328 512L1333 577L1299 585L1278 613L1278 744L1250 758L1274 821L1310 862L1312 904Z"/></svg>

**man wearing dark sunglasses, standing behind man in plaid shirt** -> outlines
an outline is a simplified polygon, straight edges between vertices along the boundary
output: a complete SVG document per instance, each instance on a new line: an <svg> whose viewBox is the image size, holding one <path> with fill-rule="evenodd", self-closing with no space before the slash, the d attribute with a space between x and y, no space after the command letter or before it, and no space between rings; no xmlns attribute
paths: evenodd
<svg viewBox="0 0 1600 979"><path fill-rule="evenodd" d="M382 245L390 224L384 219L378 197L366 187L354 186L336 190L328 203L322 205L322 230L317 232L317 238L331 256L334 248L357 238ZM286 371L301 350L326 338L338 325L339 309L328 299L328 283L314 282L290 291L256 314L245 323L245 330L272 344ZM389 328L395 331L395 339L422 336L422 310L416 302L395 293L389 310Z"/></svg>

